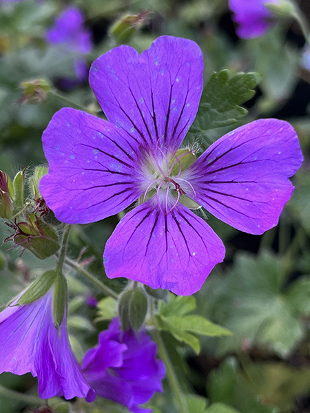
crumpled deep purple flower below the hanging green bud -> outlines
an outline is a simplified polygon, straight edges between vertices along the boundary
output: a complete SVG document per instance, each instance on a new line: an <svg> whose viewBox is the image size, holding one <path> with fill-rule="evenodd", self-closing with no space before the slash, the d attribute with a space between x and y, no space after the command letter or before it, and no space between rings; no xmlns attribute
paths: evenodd
<svg viewBox="0 0 310 413"><path fill-rule="evenodd" d="M86 352L82 370L99 396L127 406L130 412L149 413L152 410L138 405L163 391L165 366L156 359L156 344L145 330L136 334L122 332L114 319L109 329L100 333L98 346Z"/></svg>

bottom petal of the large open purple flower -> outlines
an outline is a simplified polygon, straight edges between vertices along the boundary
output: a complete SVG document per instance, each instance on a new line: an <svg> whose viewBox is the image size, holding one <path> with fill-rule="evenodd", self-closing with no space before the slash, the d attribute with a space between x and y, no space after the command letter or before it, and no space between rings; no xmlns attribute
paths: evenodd
<svg viewBox="0 0 310 413"><path fill-rule="evenodd" d="M178 295L196 293L225 248L201 218L178 204L163 215L150 200L116 226L103 260L107 277L126 277Z"/></svg>

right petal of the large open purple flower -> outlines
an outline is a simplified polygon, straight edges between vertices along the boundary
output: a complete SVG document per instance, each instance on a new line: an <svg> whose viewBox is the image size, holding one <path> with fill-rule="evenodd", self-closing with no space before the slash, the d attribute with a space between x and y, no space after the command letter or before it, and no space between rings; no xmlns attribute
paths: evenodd
<svg viewBox="0 0 310 413"><path fill-rule="evenodd" d="M298 137L289 123L261 119L223 136L187 170L196 201L247 233L278 224L302 163Z"/></svg>

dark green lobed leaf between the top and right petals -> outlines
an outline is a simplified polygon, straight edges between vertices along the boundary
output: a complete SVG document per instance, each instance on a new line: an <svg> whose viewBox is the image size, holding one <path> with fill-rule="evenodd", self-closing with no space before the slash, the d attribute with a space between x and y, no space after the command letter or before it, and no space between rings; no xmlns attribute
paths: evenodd
<svg viewBox="0 0 310 413"><path fill-rule="evenodd" d="M240 105L254 96L254 87L261 78L258 73L237 73L231 76L228 70L212 74L203 89L190 132L205 133L209 129L232 125L242 119L247 114L247 109Z"/></svg>

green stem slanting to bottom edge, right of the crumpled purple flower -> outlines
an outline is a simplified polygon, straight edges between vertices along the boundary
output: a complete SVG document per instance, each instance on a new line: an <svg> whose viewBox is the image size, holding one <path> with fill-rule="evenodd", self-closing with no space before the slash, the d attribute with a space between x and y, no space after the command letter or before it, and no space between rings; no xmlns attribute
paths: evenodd
<svg viewBox="0 0 310 413"><path fill-rule="evenodd" d="M187 402L180 388L180 384L178 383L172 362L169 359L169 354L167 353L167 350L165 348L165 343L163 342L161 333L156 328L152 330L152 337L157 344L158 355L165 363L167 379L169 386L174 393L176 403L178 403L178 410L180 411L180 413L188 413Z"/></svg>

